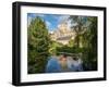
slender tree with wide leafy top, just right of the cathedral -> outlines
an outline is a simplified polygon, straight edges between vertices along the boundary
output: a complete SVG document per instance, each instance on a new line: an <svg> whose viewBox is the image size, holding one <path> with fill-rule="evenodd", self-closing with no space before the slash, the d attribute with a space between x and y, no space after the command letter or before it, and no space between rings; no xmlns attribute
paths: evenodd
<svg viewBox="0 0 109 88"><path fill-rule="evenodd" d="M77 48L80 48L80 37L86 24L86 18L87 18L86 16L78 16L78 15L70 16L72 23L71 27L74 29L74 33L76 35L74 40Z"/></svg>

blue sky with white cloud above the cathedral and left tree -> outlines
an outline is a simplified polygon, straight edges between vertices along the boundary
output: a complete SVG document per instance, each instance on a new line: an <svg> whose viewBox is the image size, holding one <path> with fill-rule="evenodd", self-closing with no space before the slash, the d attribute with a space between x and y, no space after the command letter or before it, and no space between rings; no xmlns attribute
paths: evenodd
<svg viewBox="0 0 109 88"><path fill-rule="evenodd" d="M70 15L28 13L27 14L28 25L32 18L35 18L36 16L41 17L46 22L49 32L52 32L57 29L58 25L61 22L66 21Z"/></svg>

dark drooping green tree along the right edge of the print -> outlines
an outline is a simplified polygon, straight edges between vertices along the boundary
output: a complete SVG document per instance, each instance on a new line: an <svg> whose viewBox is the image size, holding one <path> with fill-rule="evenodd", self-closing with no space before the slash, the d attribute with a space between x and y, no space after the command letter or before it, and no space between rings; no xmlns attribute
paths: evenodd
<svg viewBox="0 0 109 88"><path fill-rule="evenodd" d="M82 35L83 59L87 70L97 70L97 17L87 17L87 29Z"/></svg>

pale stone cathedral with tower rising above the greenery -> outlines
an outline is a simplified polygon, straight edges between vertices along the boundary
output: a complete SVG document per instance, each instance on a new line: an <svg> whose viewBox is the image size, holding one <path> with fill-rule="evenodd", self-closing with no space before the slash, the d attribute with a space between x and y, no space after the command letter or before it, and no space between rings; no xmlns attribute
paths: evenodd
<svg viewBox="0 0 109 88"><path fill-rule="evenodd" d="M58 25L58 29L50 33L50 36L52 40L68 45L71 39L74 39L74 32L68 27L66 23L61 23Z"/></svg>

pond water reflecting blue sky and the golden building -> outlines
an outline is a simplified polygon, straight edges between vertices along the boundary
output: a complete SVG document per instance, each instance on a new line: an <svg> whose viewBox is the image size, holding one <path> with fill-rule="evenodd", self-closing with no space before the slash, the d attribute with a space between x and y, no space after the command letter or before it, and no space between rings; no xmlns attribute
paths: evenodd
<svg viewBox="0 0 109 88"><path fill-rule="evenodd" d="M81 59L74 60L72 56L66 56L66 61L61 56L50 56L46 66L47 73L58 72L82 72L83 65Z"/></svg>

